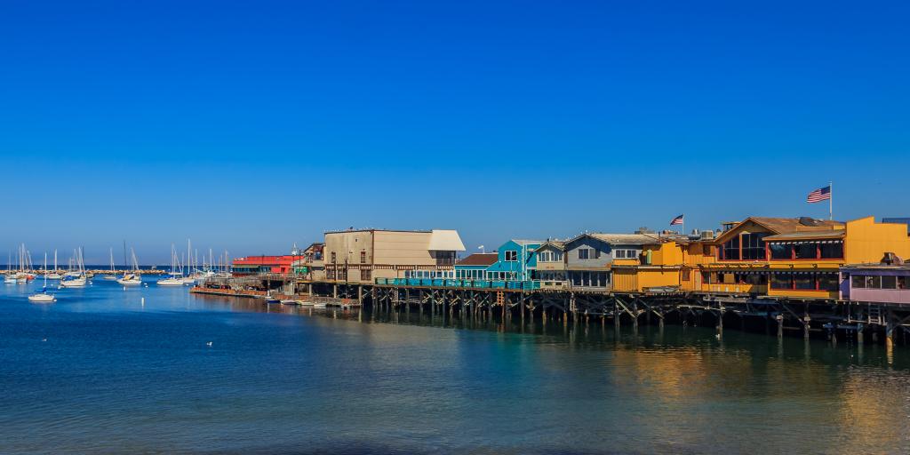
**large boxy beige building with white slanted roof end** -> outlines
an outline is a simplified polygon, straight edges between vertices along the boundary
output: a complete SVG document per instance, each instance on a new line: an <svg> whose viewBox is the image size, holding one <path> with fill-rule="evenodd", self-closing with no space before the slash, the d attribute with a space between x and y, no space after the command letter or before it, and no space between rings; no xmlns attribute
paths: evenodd
<svg viewBox="0 0 910 455"><path fill-rule="evenodd" d="M326 233L323 259L329 281L373 283L418 269L454 270L464 249L455 230L345 230Z"/></svg>

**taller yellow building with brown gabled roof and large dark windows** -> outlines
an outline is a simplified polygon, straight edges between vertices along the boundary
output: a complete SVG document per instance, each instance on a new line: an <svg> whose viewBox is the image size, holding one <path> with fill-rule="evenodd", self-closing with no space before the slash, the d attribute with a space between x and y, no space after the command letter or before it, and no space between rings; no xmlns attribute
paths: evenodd
<svg viewBox="0 0 910 455"><path fill-rule="evenodd" d="M702 291L791 298L838 298L844 264L910 253L906 227L874 217L847 223L749 217L713 244L716 257L699 266Z"/></svg>

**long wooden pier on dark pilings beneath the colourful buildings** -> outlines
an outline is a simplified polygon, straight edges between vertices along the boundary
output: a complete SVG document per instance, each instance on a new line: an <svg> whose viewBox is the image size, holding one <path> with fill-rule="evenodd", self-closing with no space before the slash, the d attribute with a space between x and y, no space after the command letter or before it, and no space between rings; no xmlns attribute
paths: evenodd
<svg viewBox="0 0 910 455"><path fill-rule="evenodd" d="M310 281L277 277L244 277L242 285L258 281L261 289L282 289L301 299L329 298L349 302L344 308L368 306L452 317L478 316L543 324L614 324L710 326L723 337L724 329L764 331L783 337L825 337L837 342L850 339L908 344L910 306L864 303L824 298L769 298L723 293L659 292L620 293L567 289L455 288L396 286L338 281ZM265 290L193 288L193 292L219 295L265 295ZM288 292L289 291L289 292ZM273 295L277 294L274 293ZM278 297L282 298L282 297ZM291 298L291 297L288 297ZM814 334L814 335L813 335Z"/></svg>

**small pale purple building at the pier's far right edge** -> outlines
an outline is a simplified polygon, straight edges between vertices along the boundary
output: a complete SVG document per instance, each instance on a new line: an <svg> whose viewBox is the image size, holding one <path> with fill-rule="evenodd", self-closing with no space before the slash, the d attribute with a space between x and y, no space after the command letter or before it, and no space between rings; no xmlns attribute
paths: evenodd
<svg viewBox="0 0 910 455"><path fill-rule="evenodd" d="M841 268L841 298L910 305L910 265L845 265Z"/></svg>

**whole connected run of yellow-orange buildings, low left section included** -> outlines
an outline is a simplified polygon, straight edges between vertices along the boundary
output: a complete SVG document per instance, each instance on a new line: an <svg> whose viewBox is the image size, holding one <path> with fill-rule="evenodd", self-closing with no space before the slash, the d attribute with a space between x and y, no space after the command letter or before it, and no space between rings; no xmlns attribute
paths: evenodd
<svg viewBox="0 0 910 455"><path fill-rule="evenodd" d="M910 258L906 225L814 218L749 217L717 238L661 236L636 259L613 262L615 292L701 292L838 298L839 268Z"/></svg>

